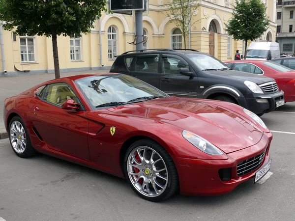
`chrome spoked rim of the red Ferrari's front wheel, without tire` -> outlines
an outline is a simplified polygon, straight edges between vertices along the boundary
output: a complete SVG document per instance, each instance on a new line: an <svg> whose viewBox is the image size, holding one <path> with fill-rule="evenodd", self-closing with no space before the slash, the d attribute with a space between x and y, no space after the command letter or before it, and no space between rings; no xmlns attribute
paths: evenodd
<svg viewBox="0 0 295 221"><path fill-rule="evenodd" d="M167 166L163 158L150 147L140 146L129 154L127 171L131 183L143 195L155 197L167 187Z"/></svg>

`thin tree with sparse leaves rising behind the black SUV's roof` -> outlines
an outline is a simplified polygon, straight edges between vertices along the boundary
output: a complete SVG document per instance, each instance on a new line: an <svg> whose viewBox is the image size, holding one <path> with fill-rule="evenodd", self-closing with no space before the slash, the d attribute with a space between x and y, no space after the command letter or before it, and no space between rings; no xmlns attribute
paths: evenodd
<svg viewBox="0 0 295 221"><path fill-rule="evenodd" d="M172 0L168 5L167 11L164 13L169 17L177 28L181 31L184 39L184 48L186 49L186 37L196 23L202 19L194 20L194 12L200 6L199 0Z"/></svg>

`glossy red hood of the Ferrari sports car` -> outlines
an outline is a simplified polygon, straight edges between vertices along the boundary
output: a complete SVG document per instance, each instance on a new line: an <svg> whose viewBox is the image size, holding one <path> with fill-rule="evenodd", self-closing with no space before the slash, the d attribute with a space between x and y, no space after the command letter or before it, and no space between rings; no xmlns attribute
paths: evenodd
<svg viewBox="0 0 295 221"><path fill-rule="evenodd" d="M109 111L172 124L207 139L225 153L252 146L263 136L249 120L204 100L167 97Z"/></svg>

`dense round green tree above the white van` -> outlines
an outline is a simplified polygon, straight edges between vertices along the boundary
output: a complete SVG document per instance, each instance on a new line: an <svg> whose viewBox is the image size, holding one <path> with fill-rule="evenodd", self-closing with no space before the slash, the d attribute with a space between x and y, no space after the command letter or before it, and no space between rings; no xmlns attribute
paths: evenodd
<svg viewBox="0 0 295 221"><path fill-rule="evenodd" d="M269 25L266 5L261 0L236 0L232 19L226 25L226 31L235 40L247 42L260 38Z"/></svg>

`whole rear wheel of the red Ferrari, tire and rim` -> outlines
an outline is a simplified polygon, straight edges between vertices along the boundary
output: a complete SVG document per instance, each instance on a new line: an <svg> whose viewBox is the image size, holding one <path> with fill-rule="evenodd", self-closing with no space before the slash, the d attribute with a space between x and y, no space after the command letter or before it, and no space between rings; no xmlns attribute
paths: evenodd
<svg viewBox="0 0 295 221"><path fill-rule="evenodd" d="M19 116L14 116L9 123L9 140L14 153L19 157L32 157L36 152L25 123Z"/></svg>

